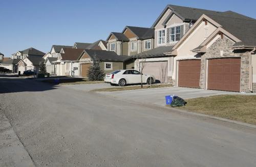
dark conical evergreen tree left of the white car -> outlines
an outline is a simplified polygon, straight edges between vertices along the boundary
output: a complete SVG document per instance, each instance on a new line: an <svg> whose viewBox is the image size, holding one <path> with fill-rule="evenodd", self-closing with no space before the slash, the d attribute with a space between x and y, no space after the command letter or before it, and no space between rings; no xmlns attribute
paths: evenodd
<svg viewBox="0 0 256 167"><path fill-rule="evenodd" d="M99 66L99 59L94 56L93 63L88 70L88 78L90 81L101 81L104 76L104 71L102 71Z"/></svg>

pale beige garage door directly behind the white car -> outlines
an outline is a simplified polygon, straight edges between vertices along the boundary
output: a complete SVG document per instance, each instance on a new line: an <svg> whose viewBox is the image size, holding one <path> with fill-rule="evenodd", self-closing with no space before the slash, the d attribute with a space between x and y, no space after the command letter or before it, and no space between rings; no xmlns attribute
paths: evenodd
<svg viewBox="0 0 256 167"><path fill-rule="evenodd" d="M167 61L154 61L146 62L142 71L143 74L153 75L156 82L167 83L168 62Z"/></svg>

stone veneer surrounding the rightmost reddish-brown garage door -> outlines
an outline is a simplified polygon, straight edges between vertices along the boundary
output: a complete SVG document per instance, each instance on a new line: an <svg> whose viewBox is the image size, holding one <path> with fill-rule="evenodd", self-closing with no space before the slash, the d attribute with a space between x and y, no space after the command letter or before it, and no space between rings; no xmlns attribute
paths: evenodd
<svg viewBox="0 0 256 167"><path fill-rule="evenodd" d="M206 61L211 58L225 58L225 57L241 57L241 81L240 81L240 92L249 91L249 53L241 52L234 53L232 51L232 45L234 44L227 37L223 39L217 39L201 56L201 75L200 75L200 87L205 89L206 82ZM223 53L221 53L223 52ZM254 85L256 86L256 84ZM256 88L255 88L256 89ZM256 90L255 90L256 91Z"/></svg>

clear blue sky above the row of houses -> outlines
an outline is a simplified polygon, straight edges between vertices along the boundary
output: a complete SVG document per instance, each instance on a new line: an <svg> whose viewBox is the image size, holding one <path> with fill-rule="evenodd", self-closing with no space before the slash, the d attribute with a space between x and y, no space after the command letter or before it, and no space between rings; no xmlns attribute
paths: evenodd
<svg viewBox="0 0 256 167"><path fill-rule="evenodd" d="M151 27L167 4L217 11L232 10L256 18L256 1L0 1L0 52L9 57L34 47L105 40L127 26Z"/></svg>

